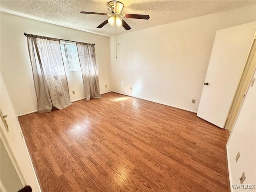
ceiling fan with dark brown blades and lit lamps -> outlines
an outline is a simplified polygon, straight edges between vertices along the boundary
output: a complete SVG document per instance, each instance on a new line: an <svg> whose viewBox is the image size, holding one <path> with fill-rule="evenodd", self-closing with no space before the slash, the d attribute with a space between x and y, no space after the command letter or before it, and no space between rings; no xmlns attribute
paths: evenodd
<svg viewBox="0 0 256 192"><path fill-rule="evenodd" d="M111 26L114 26L115 24L117 26L123 26L126 30L130 30L130 26L123 20L120 19L120 17L125 17L125 18L133 18L133 19L149 19L149 15L139 15L139 14L120 14L123 10L124 4L122 4L119 1L110 1L108 3L108 10L111 12L111 14L108 13L97 13L97 12L86 12L86 11L81 11L80 13L84 14L96 14L96 15L108 15L111 16L109 19L105 20L100 24L97 28L102 28L104 25L109 23Z"/></svg>

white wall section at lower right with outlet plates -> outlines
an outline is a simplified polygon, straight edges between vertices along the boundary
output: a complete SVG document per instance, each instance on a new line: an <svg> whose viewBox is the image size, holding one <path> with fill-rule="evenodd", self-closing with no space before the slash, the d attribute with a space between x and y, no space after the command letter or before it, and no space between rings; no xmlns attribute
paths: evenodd
<svg viewBox="0 0 256 192"><path fill-rule="evenodd" d="M231 191L256 192L256 83L249 86L226 148ZM236 162L238 151L240 158ZM232 185L240 184L243 172L246 176L243 184L253 184L254 189L233 189Z"/></svg>

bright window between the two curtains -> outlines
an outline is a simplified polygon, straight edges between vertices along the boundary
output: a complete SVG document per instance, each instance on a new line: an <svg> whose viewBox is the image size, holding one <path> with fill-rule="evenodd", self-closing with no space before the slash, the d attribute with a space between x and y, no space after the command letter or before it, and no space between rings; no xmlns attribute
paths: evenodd
<svg viewBox="0 0 256 192"><path fill-rule="evenodd" d="M60 42L61 54L66 71L80 70L76 44Z"/></svg>

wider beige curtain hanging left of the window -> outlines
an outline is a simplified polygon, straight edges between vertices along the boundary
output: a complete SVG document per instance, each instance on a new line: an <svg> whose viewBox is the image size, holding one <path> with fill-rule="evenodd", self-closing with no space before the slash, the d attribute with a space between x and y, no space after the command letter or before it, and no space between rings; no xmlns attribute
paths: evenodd
<svg viewBox="0 0 256 192"><path fill-rule="evenodd" d="M60 40L28 34L27 41L38 112L71 105Z"/></svg>

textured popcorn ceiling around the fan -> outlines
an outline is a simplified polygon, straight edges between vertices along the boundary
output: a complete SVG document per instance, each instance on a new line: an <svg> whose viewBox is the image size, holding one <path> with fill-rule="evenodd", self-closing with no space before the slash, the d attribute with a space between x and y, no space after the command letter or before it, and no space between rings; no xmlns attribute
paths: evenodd
<svg viewBox="0 0 256 192"><path fill-rule="evenodd" d="M122 14L148 14L149 20L124 18L132 28L106 24L96 28L109 16L80 14L80 11L110 13L109 0L1 0L3 12L41 18L46 22L79 30L113 36L214 12L255 4L255 0L120 0L124 4ZM20 14L19 14L20 13Z"/></svg>

